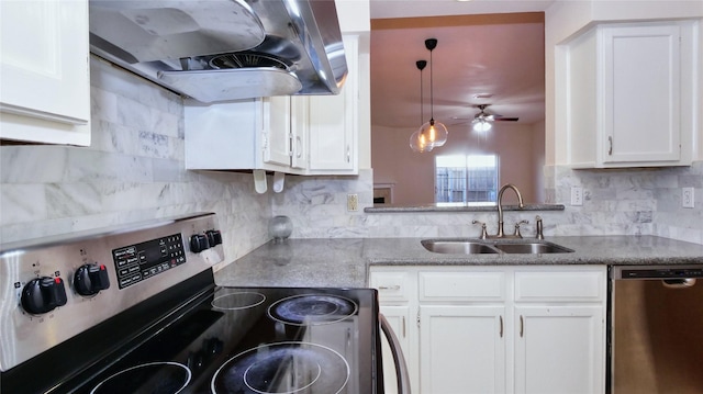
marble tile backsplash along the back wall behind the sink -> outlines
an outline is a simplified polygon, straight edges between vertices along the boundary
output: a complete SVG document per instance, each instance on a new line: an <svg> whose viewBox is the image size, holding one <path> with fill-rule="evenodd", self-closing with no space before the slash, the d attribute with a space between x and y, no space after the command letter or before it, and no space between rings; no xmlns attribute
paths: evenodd
<svg viewBox="0 0 703 394"><path fill-rule="evenodd" d="M545 168L548 203L565 211L505 212L505 228L529 221L522 234L535 234L535 216L544 219L546 236L659 235L703 244L703 161L692 167L625 170ZM292 237L472 237L480 234L473 219L498 227L495 212L373 213L372 171L358 178L298 177L286 193L275 196L274 214L292 218ZM288 182L288 181L287 181ZM571 187L583 189L583 205L571 206ZM520 185L518 185L520 187ZM695 188L695 207L681 207L681 188ZM359 195L359 212L346 211L346 194Z"/></svg>

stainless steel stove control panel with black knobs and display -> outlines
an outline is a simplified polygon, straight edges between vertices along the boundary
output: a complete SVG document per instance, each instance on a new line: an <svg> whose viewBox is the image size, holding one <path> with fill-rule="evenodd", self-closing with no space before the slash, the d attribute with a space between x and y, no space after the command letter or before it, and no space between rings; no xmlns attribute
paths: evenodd
<svg viewBox="0 0 703 394"><path fill-rule="evenodd" d="M211 270L217 228L197 213L0 245L0 370Z"/></svg>

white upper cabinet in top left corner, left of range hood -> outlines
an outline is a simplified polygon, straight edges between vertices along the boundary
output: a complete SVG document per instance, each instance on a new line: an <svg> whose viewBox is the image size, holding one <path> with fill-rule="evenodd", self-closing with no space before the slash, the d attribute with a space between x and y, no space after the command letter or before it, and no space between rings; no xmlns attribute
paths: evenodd
<svg viewBox="0 0 703 394"><path fill-rule="evenodd" d="M0 138L90 145L88 1L0 1Z"/></svg>

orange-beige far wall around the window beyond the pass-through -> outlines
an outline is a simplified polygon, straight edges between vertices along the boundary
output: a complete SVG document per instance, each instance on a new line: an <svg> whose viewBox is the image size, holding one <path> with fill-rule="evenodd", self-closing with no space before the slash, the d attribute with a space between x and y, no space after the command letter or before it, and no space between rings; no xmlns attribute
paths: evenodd
<svg viewBox="0 0 703 394"><path fill-rule="evenodd" d="M498 154L500 183L514 183L525 202L543 202L544 123L496 122L483 136L469 124L447 127L445 146L417 154L409 145L414 130L371 126L373 183L393 184L393 204L434 203L434 156L458 154ZM503 202L515 203L516 199L505 193Z"/></svg>

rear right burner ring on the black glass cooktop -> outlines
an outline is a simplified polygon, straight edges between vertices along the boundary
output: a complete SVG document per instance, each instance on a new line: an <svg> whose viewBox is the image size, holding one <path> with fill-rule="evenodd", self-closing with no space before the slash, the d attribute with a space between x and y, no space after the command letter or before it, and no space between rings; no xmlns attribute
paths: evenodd
<svg viewBox="0 0 703 394"><path fill-rule="evenodd" d="M277 301L268 314L278 322L314 326L344 320L357 309L354 301L338 295L301 294Z"/></svg>

